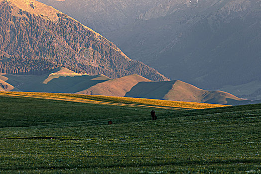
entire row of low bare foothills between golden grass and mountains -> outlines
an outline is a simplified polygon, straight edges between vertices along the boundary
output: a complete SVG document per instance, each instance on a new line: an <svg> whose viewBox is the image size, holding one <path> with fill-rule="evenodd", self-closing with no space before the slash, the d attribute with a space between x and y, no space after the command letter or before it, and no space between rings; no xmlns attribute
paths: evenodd
<svg viewBox="0 0 261 174"><path fill-rule="evenodd" d="M0 91L59 92L239 105L252 101L208 91L182 81L153 82L138 75L110 79L56 68L41 76L0 75Z"/></svg>

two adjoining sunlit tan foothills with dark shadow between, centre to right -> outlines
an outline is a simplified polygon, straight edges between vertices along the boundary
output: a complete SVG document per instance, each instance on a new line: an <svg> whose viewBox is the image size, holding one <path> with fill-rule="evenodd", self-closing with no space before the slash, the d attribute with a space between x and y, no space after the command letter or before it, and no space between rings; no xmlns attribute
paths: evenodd
<svg viewBox="0 0 261 174"><path fill-rule="evenodd" d="M203 90L182 81L152 82L137 75L99 83L78 93L228 105L251 102L227 92Z"/></svg>

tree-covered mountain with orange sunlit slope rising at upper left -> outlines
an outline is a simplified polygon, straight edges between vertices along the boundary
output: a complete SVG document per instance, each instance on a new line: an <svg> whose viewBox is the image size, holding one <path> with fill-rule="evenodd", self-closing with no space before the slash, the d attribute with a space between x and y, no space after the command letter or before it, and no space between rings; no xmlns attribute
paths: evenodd
<svg viewBox="0 0 261 174"><path fill-rule="evenodd" d="M99 33L36 0L1 0L0 23L2 73L42 75L62 65L110 78L135 73L153 81L168 80L130 60Z"/></svg>

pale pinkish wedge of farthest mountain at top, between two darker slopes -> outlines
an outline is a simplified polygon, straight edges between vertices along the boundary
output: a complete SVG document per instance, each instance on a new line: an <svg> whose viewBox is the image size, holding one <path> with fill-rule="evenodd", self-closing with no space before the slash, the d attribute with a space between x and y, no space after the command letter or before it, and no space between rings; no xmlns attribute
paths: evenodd
<svg viewBox="0 0 261 174"><path fill-rule="evenodd" d="M38 0L99 33L118 31L163 0ZM106 35L105 35L106 36Z"/></svg>

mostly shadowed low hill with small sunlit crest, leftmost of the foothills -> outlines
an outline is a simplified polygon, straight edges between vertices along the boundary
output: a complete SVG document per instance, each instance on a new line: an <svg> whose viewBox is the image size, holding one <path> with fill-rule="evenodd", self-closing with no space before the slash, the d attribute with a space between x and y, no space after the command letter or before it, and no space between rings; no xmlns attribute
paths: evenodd
<svg viewBox="0 0 261 174"><path fill-rule="evenodd" d="M66 68L57 68L42 76L2 75L4 83L12 84L8 91L75 93L110 80L104 75L78 74Z"/></svg>

